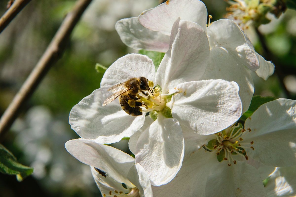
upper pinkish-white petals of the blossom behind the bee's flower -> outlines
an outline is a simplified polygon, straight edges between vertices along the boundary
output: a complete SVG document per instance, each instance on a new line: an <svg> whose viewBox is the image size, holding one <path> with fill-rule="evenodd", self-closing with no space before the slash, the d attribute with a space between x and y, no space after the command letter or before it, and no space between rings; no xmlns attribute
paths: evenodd
<svg viewBox="0 0 296 197"><path fill-rule="evenodd" d="M259 60L260 55L255 52L247 35L234 21L221 19L206 27L207 9L199 0L169 0L144 11L139 17L121 19L115 28L123 43L131 48L166 52L172 25L178 17L195 22L205 29L210 50L224 48L237 60L239 66L246 66L252 71L261 66L260 74L257 74L263 79L273 73L274 65L264 58ZM238 73L235 68L233 73Z"/></svg>

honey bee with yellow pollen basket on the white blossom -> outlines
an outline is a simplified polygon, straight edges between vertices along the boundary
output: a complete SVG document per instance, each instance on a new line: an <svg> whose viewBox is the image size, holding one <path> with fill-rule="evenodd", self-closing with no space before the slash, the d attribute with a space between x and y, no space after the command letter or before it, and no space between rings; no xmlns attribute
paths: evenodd
<svg viewBox="0 0 296 197"><path fill-rule="evenodd" d="M131 78L128 79L126 82L117 84L115 86L110 87L107 91L114 92L113 95L108 97L102 106L107 105L117 97L119 97L119 102L121 108L132 116L142 115L140 106L144 105L142 102L138 101L137 94L142 92L144 95L148 96L149 94L147 91L150 90L151 94L153 95L149 85L148 79L145 77L140 78Z"/></svg>

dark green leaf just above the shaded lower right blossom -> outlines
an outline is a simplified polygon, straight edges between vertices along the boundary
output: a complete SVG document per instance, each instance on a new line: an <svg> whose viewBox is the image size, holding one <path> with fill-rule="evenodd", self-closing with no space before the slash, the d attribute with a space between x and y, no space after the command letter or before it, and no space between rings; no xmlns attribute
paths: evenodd
<svg viewBox="0 0 296 197"><path fill-rule="evenodd" d="M261 105L266 102L275 100L275 97L261 97L260 95L253 96L249 109L240 118L241 121L246 121Z"/></svg>

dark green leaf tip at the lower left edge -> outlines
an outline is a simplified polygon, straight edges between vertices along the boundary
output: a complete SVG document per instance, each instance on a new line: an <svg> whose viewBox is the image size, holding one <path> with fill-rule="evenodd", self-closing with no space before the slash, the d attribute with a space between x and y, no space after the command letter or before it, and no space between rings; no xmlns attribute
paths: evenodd
<svg viewBox="0 0 296 197"><path fill-rule="evenodd" d="M17 162L15 156L0 144L0 172L8 175L16 175L17 180L22 181L33 173L33 168Z"/></svg>

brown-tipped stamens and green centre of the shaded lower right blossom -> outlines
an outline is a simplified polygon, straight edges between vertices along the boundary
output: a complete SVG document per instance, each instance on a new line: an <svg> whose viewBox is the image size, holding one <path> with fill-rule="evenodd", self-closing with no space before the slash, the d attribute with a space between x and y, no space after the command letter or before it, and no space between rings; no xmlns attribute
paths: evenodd
<svg viewBox="0 0 296 197"><path fill-rule="evenodd" d="M250 128L247 128L251 132ZM228 165L231 166L231 162L234 164L237 161L232 157L234 155L240 155L245 159L248 159L245 149L252 149L254 147L254 141L243 143L243 136L248 133L242 126L238 123L237 126L232 125L229 128L224 129L218 133L215 133L216 139L212 139L203 148L209 152L216 151L217 159L219 162L223 160L228 161ZM250 146L251 145L251 146Z"/></svg>

